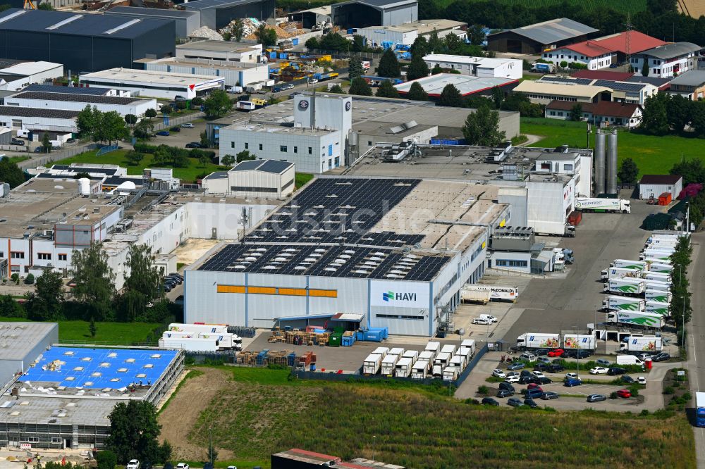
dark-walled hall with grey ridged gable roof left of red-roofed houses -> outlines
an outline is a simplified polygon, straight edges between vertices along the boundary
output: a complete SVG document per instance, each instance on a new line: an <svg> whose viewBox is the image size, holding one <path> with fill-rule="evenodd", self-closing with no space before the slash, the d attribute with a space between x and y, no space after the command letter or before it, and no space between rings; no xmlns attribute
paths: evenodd
<svg viewBox="0 0 705 469"><path fill-rule="evenodd" d="M584 41L596 32L598 30L594 27L583 25L570 18L556 18L543 23L516 27L513 30L494 32L487 35L487 47L496 52L537 55L545 49Z"/></svg>

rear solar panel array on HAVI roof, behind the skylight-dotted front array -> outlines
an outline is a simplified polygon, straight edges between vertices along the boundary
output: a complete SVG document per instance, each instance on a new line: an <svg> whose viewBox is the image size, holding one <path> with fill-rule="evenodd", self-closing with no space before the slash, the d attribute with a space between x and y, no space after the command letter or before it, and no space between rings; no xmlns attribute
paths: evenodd
<svg viewBox="0 0 705 469"><path fill-rule="evenodd" d="M250 235L250 242L357 243L401 247L422 235L368 233L420 180L320 178Z"/></svg>

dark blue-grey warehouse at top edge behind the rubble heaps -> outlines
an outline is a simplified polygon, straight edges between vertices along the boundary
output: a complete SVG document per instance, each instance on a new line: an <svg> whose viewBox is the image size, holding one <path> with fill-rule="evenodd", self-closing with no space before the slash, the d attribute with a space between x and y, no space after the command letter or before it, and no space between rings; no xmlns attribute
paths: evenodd
<svg viewBox="0 0 705 469"><path fill-rule="evenodd" d="M274 0L197 0L184 2L186 11L201 15L201 26L219 30L238 18L274 21Z"/></svg>

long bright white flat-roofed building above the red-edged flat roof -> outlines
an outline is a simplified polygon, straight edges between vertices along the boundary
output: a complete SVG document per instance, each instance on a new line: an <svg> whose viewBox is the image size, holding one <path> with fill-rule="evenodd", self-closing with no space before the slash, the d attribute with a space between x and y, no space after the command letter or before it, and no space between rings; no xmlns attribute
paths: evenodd
<svg viewBox="0 0 705 469"><path fill-rule="evenodd" d="M517 58L489 58L429 54L424 56L429 69L434 67L458 70L471 77L497 77L518 80L522 77L522 61Z"/></svg>

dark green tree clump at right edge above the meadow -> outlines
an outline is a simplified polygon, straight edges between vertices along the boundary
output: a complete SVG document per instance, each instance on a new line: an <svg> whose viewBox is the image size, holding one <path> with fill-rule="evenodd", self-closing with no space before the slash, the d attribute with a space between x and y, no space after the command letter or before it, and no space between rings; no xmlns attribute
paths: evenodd
<svg viewBox="0 0 705 469"><path fill-rule="evenodd" d="M650 135L680 134L688 126L705 137L705 101L691 101L680 94L658 93L644 101L643 132Z"/></svg>

